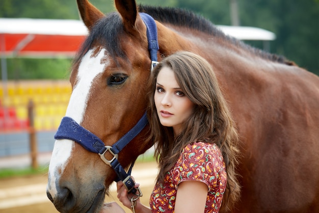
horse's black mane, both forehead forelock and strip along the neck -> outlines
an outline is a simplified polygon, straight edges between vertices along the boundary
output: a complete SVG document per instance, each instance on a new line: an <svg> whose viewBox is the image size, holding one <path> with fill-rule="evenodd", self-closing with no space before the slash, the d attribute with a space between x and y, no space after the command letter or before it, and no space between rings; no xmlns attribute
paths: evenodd
<svg viewBox="0 0 319 213"><path fill-rule="evenodd" d="M233 37L225 35L221 30L217 29L209 20L202 16L195 14L192 11L168 8L168 7L151 7L151 6L139 6L139 12L145 12L151 15L155 20L163 23L170 23L175 26L192 28L207 34L213 35L227 40L228 42L237 45L239 48L246 49L252 52L254 55L258 55L262 58L293 65L293 62L288 61L283 56L277 56L264 52L260 49L253 48L252 46L245 44L244 42L235 39ZM120 34L124 33L122 18L117 12L112 12L107 16L101 18L93 26L89 36L82 44L81 50L78 52L74 59L74 63L81 60L81 58L92 48L95 42L98 42L101 46L104 46L110 53L111 57L116 63L117 57L126 58L125 53L121 48L121 42L119 40ZM109 42L111 41L111 42Z"/></svg>

